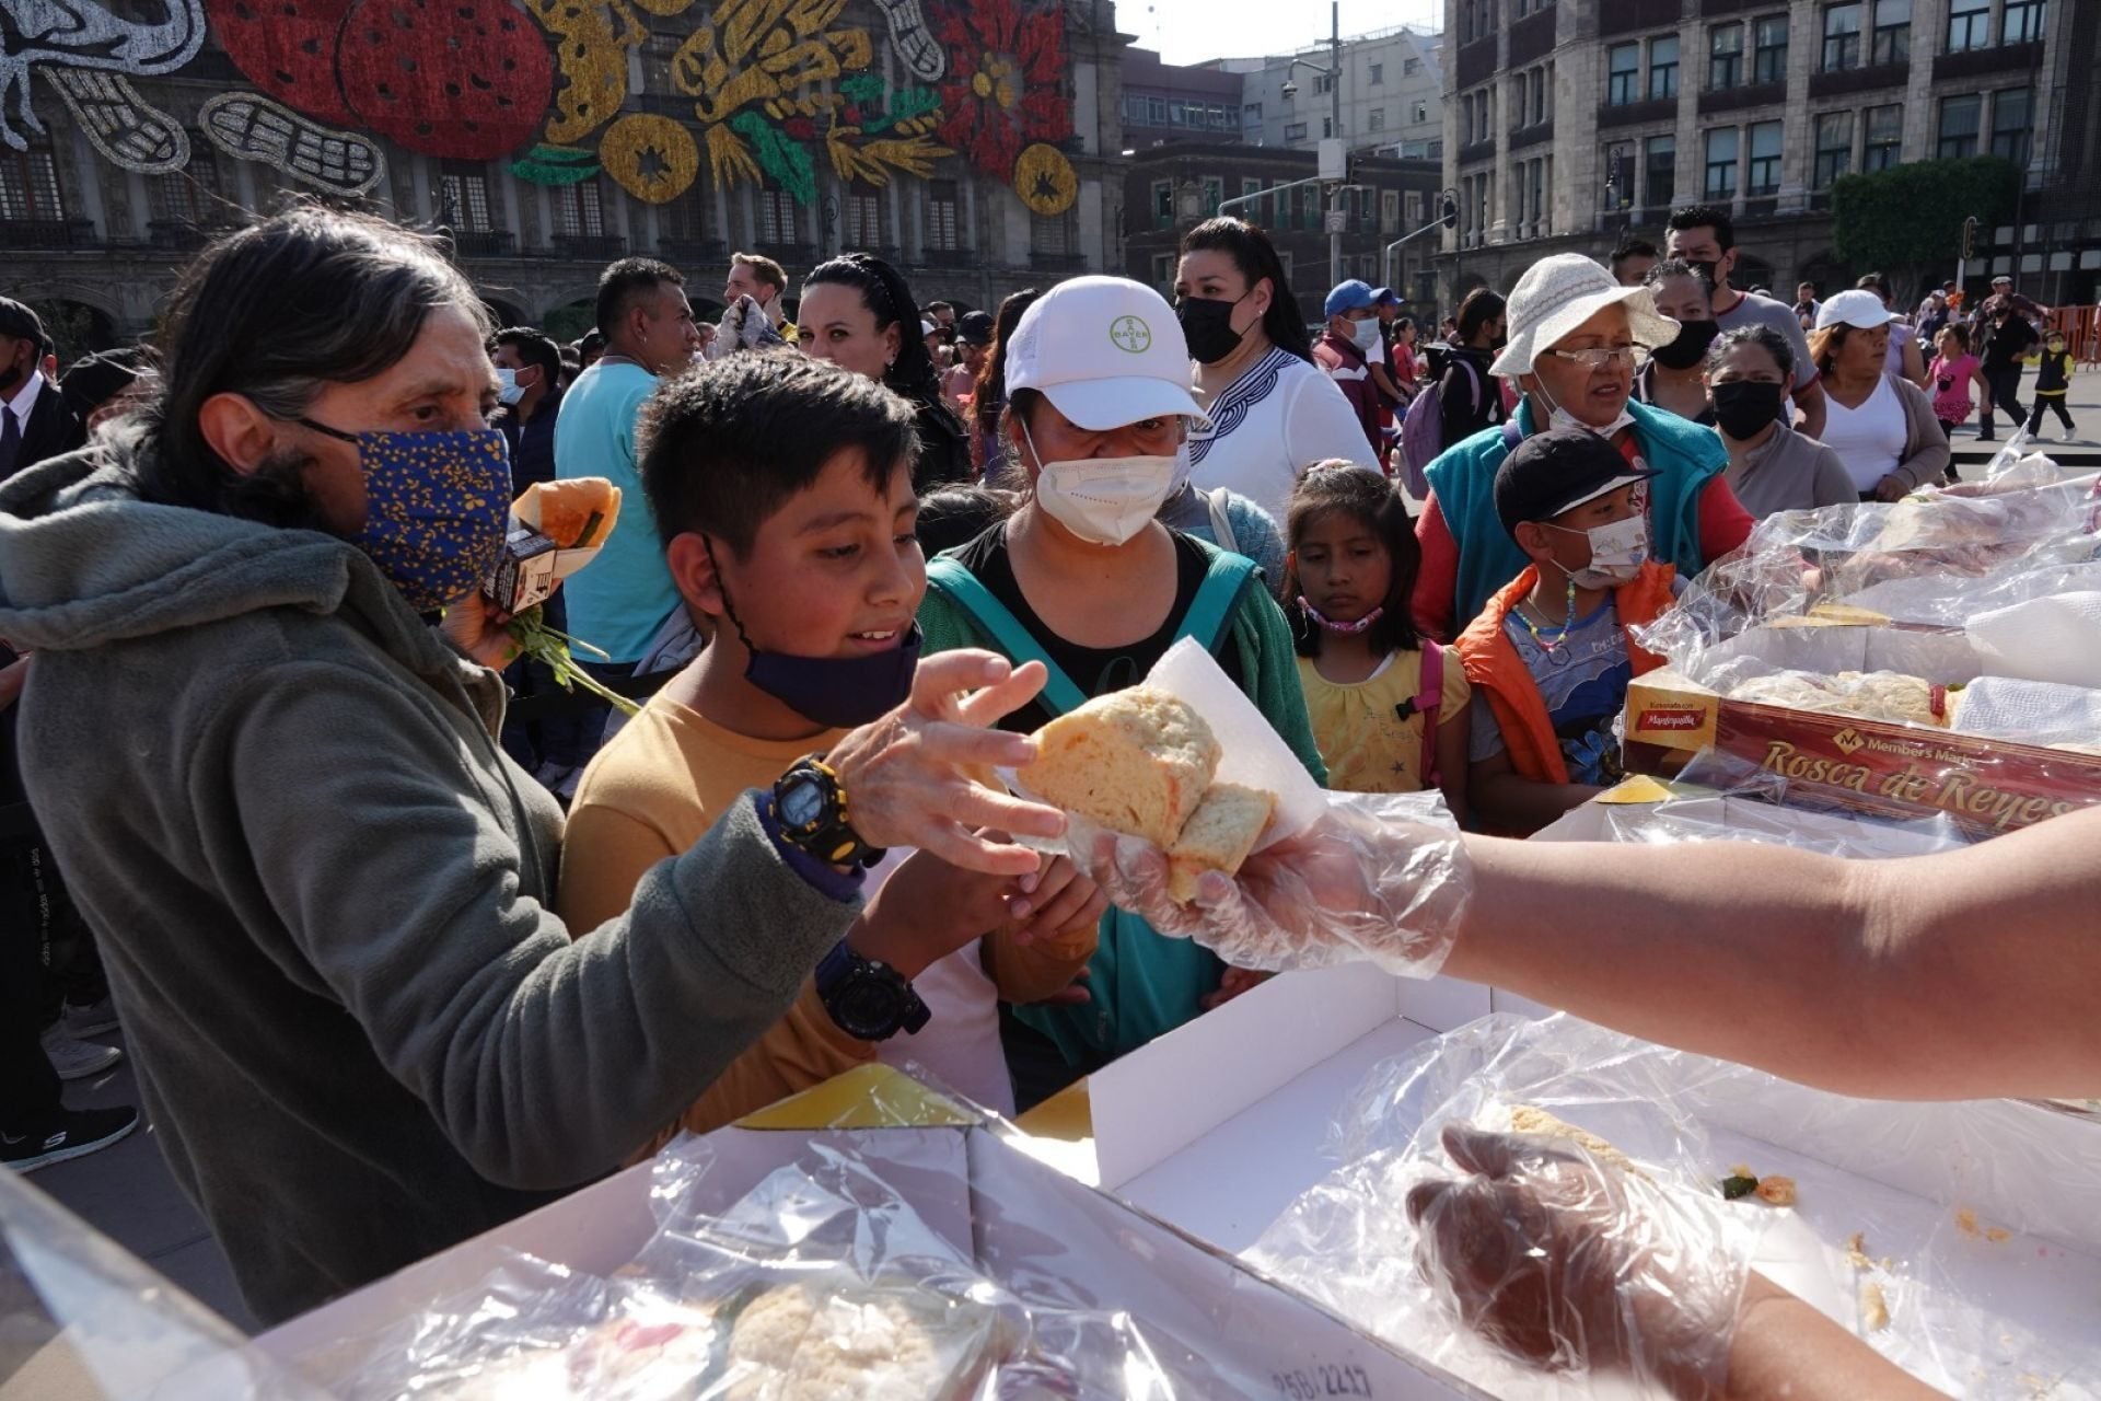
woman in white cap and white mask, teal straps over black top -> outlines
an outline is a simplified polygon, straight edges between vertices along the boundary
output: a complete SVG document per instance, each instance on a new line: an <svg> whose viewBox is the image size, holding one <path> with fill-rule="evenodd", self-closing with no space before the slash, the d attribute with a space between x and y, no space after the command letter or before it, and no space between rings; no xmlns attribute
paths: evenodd
<svg viewBox="0 0 2101 1401"><path fill-rule="evenodd" d="M1156 521L1179 487L1189 349L1166 300L1122 277L1074 277L1032 305L1006 349L1002 433L1027 477L1021 508L927 563L927 653L990 647L1042 660L1042 695L1006 718L1032 731L1137 685L1179 639L1212 651L1307 771L1326 781L1284 611L1254 565ZM1361 435L1359 435L1361 439ZM1143 920L1111 914L1090 1002L1004 1017L1017 1105L1027 1107L1235 991L1225 964Z"/></svg>

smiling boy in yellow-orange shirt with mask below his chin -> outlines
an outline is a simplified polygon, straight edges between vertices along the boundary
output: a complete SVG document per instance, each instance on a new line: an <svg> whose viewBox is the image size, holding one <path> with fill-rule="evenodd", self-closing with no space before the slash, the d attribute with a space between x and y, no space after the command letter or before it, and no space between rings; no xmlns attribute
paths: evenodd
<svg viewBox="0 0 2101 1401"><path fill-rule="evenodd" d="M714 641L584 771L559 893L578 937L737 794L910 693L927 590L914 447L906 401L800 355L735 355L649 399L643 489ZM1067 989L1105 901L1063 857L1015 882L891 853L876 876L796 1004L681 1126L708 1132L874 1059L1013 1109L996 1004Z"/></svg>

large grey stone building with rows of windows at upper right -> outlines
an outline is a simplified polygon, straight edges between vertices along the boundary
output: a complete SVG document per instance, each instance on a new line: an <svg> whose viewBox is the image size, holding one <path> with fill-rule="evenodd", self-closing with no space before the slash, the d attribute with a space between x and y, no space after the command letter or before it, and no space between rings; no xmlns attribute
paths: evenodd
<svg viewBox="0 0 2101 1401"><path fill-rule="evenodd" d="M1899 162L2006 155L2023 212L1971 273L2090 302L2101 271L2090 92L2101 6L2074 0L1448 0L1456 292L1717 204L1733 281L1851 286L1830 189ZM1960 223L1962 210L1920 210ZM1948 269L1954 275L1954 267Z"/></svg>

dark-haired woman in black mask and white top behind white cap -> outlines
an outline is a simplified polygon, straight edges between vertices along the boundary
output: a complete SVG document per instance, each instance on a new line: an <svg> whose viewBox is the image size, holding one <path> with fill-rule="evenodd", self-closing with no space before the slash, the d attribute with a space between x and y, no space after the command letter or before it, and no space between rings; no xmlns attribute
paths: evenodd
<svg viewBox="0 0 2101 1401"><path fill-rule="evenodd" d="M1198 487L1231 487L1282 521L1309 466L1368 460L1355 410L1313 363L1292 281L1267 233L1231 216L1191 229L1174 271L1174 315L1195 359L1204 414L1189 424Z"/></svg>

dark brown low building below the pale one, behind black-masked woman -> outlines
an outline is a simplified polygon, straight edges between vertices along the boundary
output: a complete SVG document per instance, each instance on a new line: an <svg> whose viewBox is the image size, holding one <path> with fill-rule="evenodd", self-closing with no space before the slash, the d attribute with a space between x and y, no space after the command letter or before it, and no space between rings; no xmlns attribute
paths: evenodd
<svg viewBox="0 0 2101 1401"><path fill-rule="evenodd" d="M1322 319L1328 290L1347 277L1395 288L1410 311L1435 300L1422 237L1389 252L1403 233L1435 221L1441 168L1431 160L1359 158L1357 185L1343 191L1343 265L1330 263L1328 193L1322 185L1277 189L1317 174L1315 151L1246 143L1170 145L1139 151L1124 172L1124 275L1174 294L1174 263L1183 233L1225 208L1269 231L1284 273L1309 323Z"/></svg>

